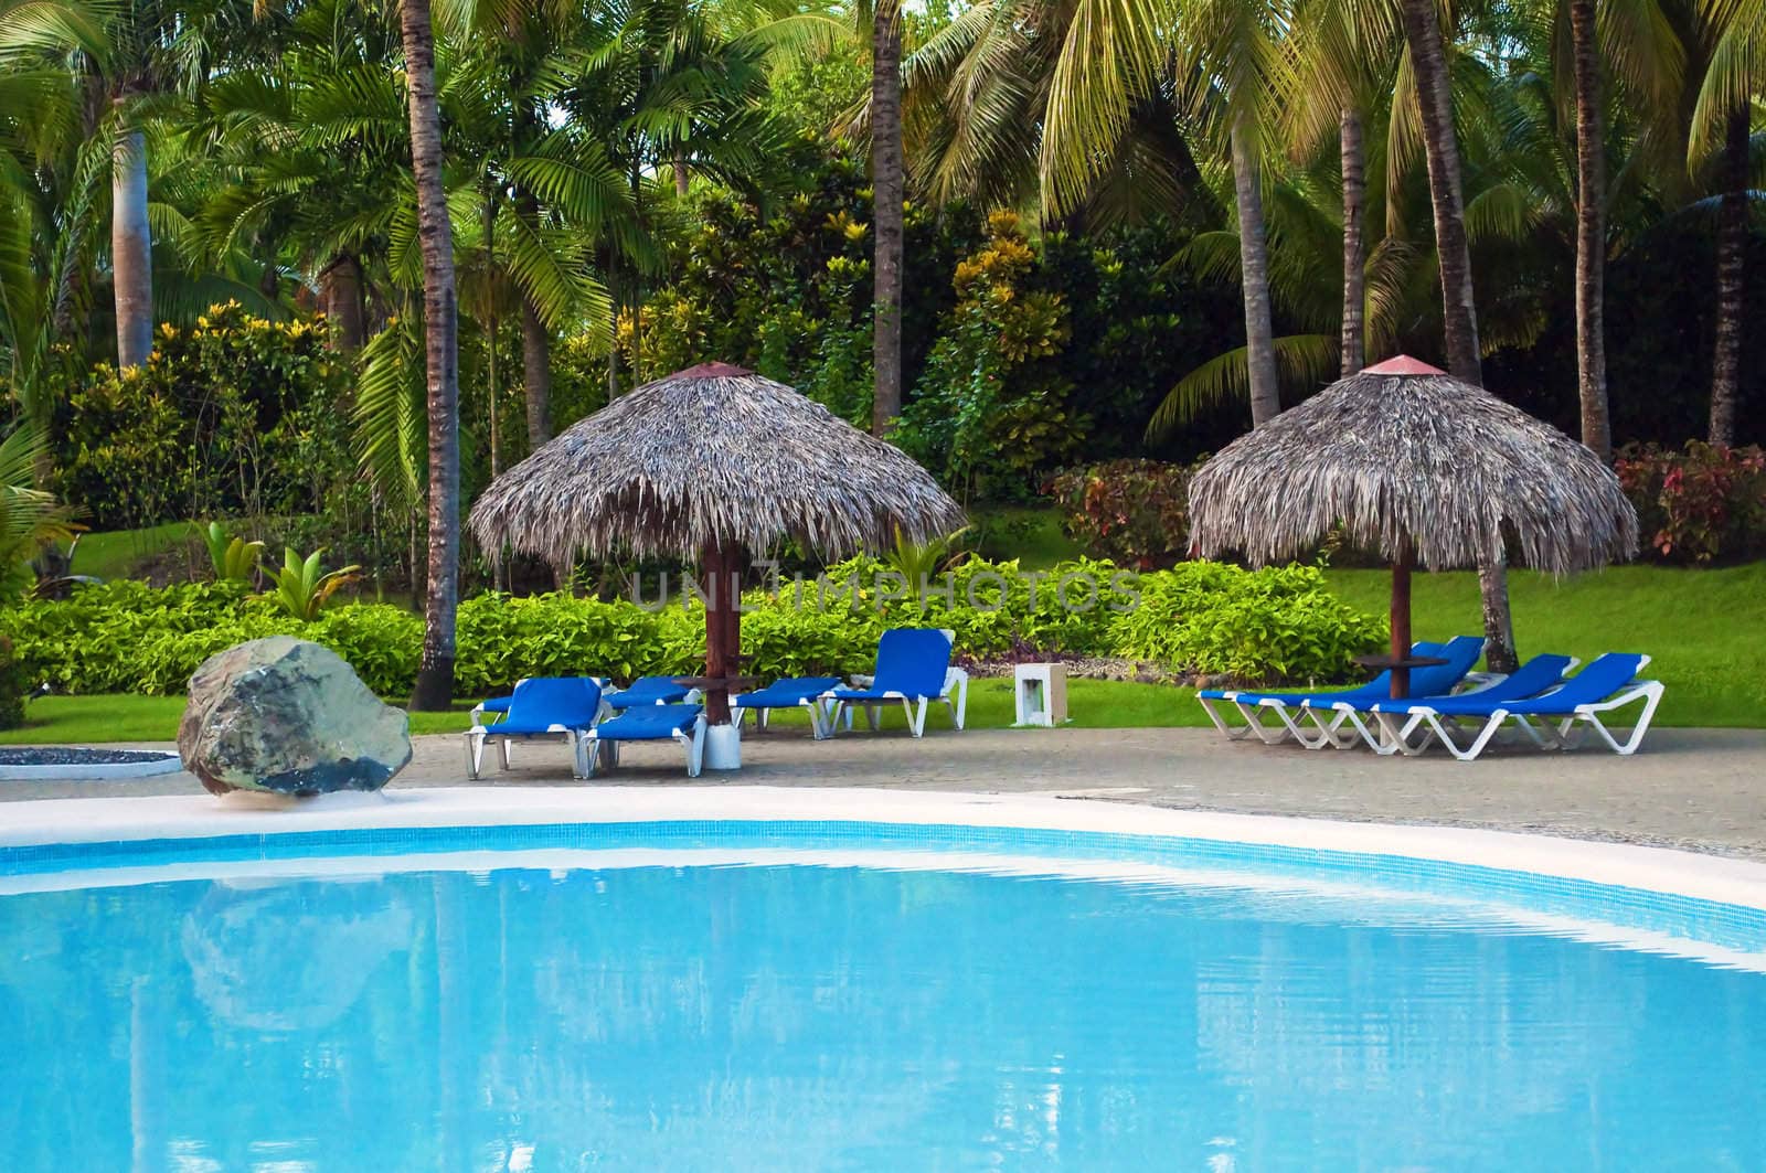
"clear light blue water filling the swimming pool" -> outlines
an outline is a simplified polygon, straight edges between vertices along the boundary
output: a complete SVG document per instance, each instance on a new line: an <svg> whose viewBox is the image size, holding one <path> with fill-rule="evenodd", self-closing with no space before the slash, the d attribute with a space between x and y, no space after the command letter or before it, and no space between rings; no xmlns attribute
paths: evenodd
<svg viewBox="0 0 1766 1173"><path fill-rule="evenodd" d="M0 1169L1762 1169L1766 977L826 866L0 897Z"/></svg>

